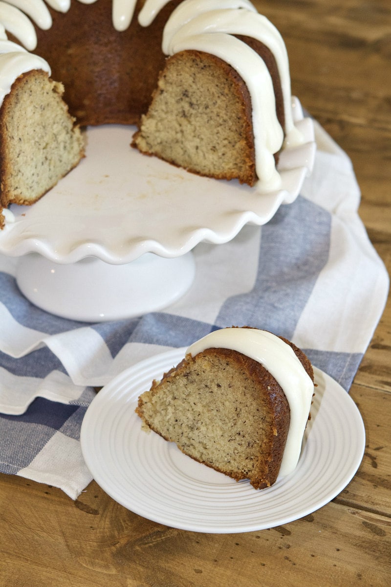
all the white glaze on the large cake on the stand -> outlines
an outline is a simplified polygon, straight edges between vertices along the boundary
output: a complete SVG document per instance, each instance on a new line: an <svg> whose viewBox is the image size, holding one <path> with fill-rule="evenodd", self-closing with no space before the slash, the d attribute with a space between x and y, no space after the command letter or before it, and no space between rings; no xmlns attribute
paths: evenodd
<svg viewBox="0 0 391 587"><path fill-rule="evenodd" d="M76 1L76 0L74 0ZM83 4L93 4L96 0L77 0ZM169 0L146 0L138 15L142 26L149 26ZM36 32L32 21L39 28L49 29L52 18L47 5L59 12L67 12L71 0L5 0L0 1L0 39L6 40L6 31L11 32L29 51L36 48ZM124 31L134 16L137 0L113 0L113 26ZM273 84L270 73L260 56L246 43L234 35L251 36L267 45L276 58L284 96L285 139L276 116ZM10 46L11 47L11 46ZM278 189L281 177L278 174L273 154L285 144L300 144L302 136L293 124L291 113L291 91L288 57L285 44L277 29L267 18L258 14L249 0L183 0L172 12L164 29L162 49L166 55L181 50L196 49L212 53L225 60L243 78L251 96L253 109L253 131L256 154L256 173L260 191ZM12 48L3 50L2 66L6 70L3 83L0 68L1 95L11 89L9 83L32 68L49 71L43 60L13 55L21 52ZM0 103L1 105L1 103Z"/></svg>

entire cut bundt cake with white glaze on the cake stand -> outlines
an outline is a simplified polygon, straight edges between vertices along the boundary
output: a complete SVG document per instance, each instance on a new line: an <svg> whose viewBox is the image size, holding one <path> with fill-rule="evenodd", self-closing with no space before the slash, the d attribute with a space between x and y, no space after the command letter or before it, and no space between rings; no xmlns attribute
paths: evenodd
<svg viewBox="0 0 391 587"><path fill-rule="evenodd" d="M142 153L264 191L302 140L283 39L249 0L5 0L0 82L0 211L76 166L86 125L137 124Z"/></svg>

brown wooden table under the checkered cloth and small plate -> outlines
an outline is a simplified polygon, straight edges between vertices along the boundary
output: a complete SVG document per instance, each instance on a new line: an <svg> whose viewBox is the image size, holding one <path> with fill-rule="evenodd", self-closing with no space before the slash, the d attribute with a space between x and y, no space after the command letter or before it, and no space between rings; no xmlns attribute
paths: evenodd
<svg viewBox="0 0 391 587"><path fill-rule="evenodd" d="M359 214L390 270L390 1L256 4L284 36L293 93L352 158ZM185 532L125 510L94 482L73 502L0 475L1 585L391 585L391 303L350 393L365 422L361 467L331 503L284 527Z"/></svg>

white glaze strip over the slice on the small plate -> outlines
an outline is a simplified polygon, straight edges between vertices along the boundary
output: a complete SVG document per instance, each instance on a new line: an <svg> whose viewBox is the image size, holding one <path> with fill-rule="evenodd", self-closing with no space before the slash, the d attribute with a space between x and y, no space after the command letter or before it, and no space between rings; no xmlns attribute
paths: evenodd
<svg viewBox="0 0 391 587"><path fill-rule="evenodd" d="M254 328L223 328L193 343L186 355L210 348L236 350L261 363L280 384L290 407L290 425L278 478L292 473L298 463L302 437L310 413L314 383L294 350L278 336Z"/></svg>

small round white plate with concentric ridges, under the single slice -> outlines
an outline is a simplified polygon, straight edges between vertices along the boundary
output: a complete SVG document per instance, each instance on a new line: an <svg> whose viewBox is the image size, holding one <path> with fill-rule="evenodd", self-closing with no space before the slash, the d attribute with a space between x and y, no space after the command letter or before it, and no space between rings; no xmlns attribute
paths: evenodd
<svg viewBox="0 0 391 587"><path fill-rule="evenodd" d="M138 396L176 365L185 349L144 360L94 398L81 427L91 474L115 501L144 518L198 532L250 532L301 518L332 500L361 463L365 430L348 393L315 369L312 418L294 473L266 490L236 483L141 429Z"/></svg>

